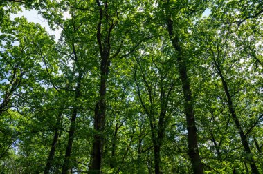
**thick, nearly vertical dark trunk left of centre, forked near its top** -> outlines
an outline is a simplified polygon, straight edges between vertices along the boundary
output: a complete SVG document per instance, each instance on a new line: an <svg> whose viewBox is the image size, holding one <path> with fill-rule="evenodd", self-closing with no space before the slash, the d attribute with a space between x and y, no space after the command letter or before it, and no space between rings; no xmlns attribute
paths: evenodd
<svg viewBox="0 0 263 174"><path fill-rule="evenodd" d="M100 49L100 99L96 103L95 113L94 113L94 130L96 131L93 139L93 153L92 153L92 164L89 169L89 173L101 173L102 166L102 156L103 156L103 146L104 146L104 130L105 130L105 119L106 119L106 85L109 75L109 52L110 52L110 39L111 39L111 30L113 30L116 23L111 23L109 25L108 21L108 4L107 1L100 3L99 0L96 0L96 3L99 8L100 18L97 28L97 41ZM105 30L107 30L106 35L102 35L102 19L105 18Z"/></svg>

